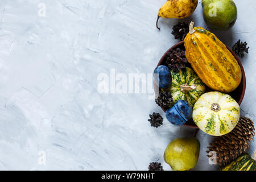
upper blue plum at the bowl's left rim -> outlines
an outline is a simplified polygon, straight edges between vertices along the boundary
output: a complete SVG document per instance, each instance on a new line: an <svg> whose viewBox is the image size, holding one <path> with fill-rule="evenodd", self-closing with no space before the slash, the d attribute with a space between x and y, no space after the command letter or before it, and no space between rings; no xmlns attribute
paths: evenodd
<svg viewBox="0 0 256 182"><path fill-rule="evenodd" d="M158 74L158 76L155 74ZM156 67L154 70L154 80L156 85L158 85L160 88L169 88L172 84L172 76L169 68L165 65L160 65Z"/></svg>

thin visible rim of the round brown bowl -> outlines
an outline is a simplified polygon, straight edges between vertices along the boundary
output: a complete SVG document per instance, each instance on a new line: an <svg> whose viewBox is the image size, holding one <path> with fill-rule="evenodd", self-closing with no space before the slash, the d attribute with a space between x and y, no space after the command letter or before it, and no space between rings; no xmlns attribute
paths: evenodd
<svg viewBox="0 0 256 182"><path fill-rule="evenodd" d="M167 53L170 52L171 49L175 49L175 48L179 47L181 44L184 44L184 40L181 41L181 42L179 42L179 43L177 43L177 44L175 44L175 45L172 46L171 48L169 48L169 49L164 53L164 55L161 57L161 59L159 60L157 67L158 67L159 65L162 65L162 63L163 63L163 61L164 61L164 59L165 59ZM232 55L233 55L234 58L237 60L237 63L238 63L238 65L240 65L240 68L241 68L241 72L242 72L242 80L241 80L241 82L242 82L242 94L241 94L240 100L238 101L238 104L241 105L241 103L242 103L242 101L243 101L243 97L245 96L245 90L246 90L246 76L245 76L245 70L243 69L243 65L242 65L242 63L241 63L241 60L238 58L238 56L236 55L236 53L234 53L234 52L232 51L232 49L230 49L228 46L226 46L226 48L228 48L228 50L232 53ZM155 84L155 81L154 81L154 90L155 90L155 94L156 94L156 84ZM161 107L161 108L162 108L162 110L164 111L164 113L166 113L166 110L165 110L163 107ZM199 127L197 127L196 125L190 125L190 124L188 124L188 123L185 123L184 126L188 126L188 127L194 128L194 129L199 129Z"/></svg>

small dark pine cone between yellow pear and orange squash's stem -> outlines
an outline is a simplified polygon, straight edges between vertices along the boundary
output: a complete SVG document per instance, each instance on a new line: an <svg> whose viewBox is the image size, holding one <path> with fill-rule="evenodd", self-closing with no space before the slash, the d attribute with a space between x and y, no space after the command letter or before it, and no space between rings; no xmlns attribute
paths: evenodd
<svg viewBox="0 0 256 182"><path fill-rule="evenodd" d="M180 39L180 41L185 39L185 36L188 34L189 27L188 24L183 22L179 22L175 24L175 26L172 28L172 35L174 35L175 39Z"/></svg>

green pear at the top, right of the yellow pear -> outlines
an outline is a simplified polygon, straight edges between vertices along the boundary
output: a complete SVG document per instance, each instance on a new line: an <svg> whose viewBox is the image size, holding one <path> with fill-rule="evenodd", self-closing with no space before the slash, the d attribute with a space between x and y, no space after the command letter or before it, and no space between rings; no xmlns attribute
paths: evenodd
<svg viewBox="0 0 256 182"><path fill-rule="evenodd" d="M237 6L232 0L203 0L205 23L211 28L229 30L237 20Z"/></svg>

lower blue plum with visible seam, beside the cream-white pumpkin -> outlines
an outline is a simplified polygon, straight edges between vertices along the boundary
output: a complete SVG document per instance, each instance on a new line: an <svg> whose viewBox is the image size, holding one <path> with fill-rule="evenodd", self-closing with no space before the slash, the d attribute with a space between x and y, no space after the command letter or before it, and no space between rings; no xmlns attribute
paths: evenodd
<svg viewBox="0 0 256 182"><path fill-rule="evenodd" d="M192 108L187 101L179 100L166 111L166 118L173 125L184 125L192 118Z"/></svg>

